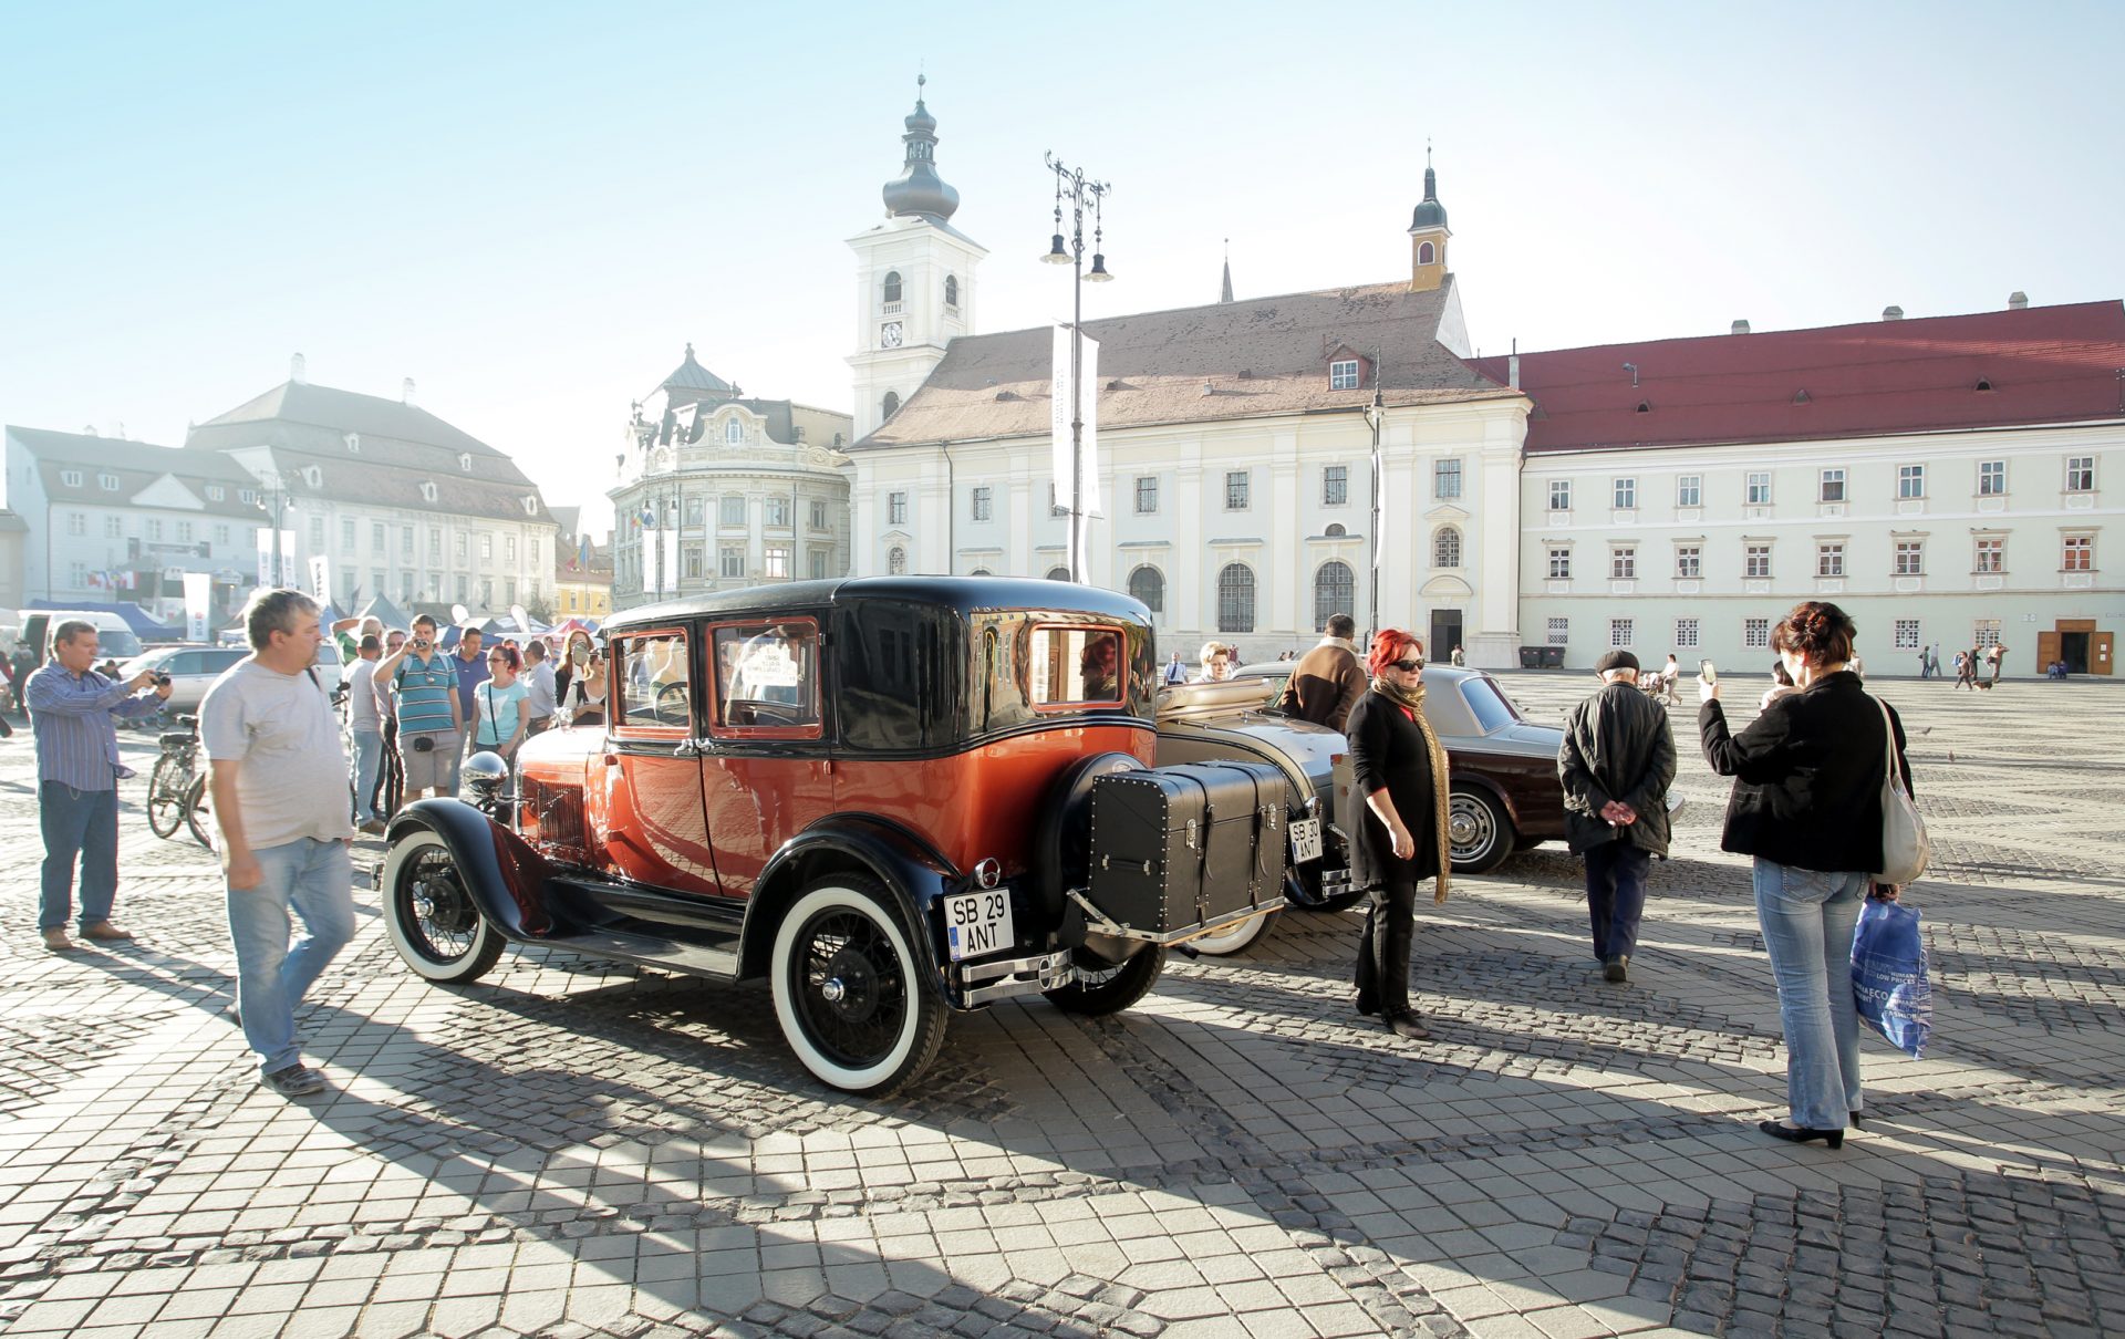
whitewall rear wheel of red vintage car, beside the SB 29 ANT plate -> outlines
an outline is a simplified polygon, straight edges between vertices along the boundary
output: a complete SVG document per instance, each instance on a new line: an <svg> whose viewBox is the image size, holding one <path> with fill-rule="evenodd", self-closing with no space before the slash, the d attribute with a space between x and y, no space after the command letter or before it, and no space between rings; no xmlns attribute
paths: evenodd
<svg viewBox="0 0 2125 1339"><path fill-rule="evenodd" d="M822 1084L882 1097L944 1046L944 1001L922 988L907 927L873 878L833 874L799 893L769 976L782 1035Z"/></svg>

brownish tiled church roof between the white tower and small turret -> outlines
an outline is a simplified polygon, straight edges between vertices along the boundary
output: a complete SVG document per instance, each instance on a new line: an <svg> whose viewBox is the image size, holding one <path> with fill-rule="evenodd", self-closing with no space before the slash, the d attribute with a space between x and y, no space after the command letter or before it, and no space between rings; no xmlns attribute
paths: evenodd
<svg viewBox="0 0 2125 1339"><path fill-rule="evenodd" d="M1328 389L1339 344L1379 351L1390 406L1515 397L1439 342L1454 281L1411 293L1383 283L1086 321L1099 340L1099 427L1360 410ZM960 336L905 404L852 451L1048 436L1050 327Z"/></svg>

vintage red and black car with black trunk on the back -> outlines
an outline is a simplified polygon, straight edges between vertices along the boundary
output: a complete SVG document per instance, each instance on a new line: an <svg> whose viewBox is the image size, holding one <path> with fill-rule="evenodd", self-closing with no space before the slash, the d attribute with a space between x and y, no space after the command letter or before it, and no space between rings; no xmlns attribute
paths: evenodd
<svg viewBox="0 0 2125 1339"><path fill-rule="evenodd" d="M393 818L380 901L421 976L518 944L767 978L805 1069L884 1092L954 1010L1124 1010L1169 946L1284 901L1284 776L1152 767L1156 646L1126 595L790 582L604 640L606 723L527 742L491 812Z"/></svg>

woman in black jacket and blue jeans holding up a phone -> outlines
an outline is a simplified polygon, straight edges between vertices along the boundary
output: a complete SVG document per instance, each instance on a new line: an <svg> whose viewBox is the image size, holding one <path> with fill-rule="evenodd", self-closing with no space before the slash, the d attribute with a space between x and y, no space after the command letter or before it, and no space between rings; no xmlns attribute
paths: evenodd
<svg viewBox="0 0 2125 1339"><path fill-rule="evenodd" d="M1889 740L1910 786L1896 710L1851 674L1853 621L1834 604L1794 606L1770 633L1796 691L1730 733L1719 684L1698 680L1704 761L1732 776L1723 850L1755 861L1755 914L1779 984L1791 1120L1776 1139L1844 1143L1864 1109L1851 944L1883 867L1881 793ZM1893 897L1893 891L1887 891Z"/></svg>

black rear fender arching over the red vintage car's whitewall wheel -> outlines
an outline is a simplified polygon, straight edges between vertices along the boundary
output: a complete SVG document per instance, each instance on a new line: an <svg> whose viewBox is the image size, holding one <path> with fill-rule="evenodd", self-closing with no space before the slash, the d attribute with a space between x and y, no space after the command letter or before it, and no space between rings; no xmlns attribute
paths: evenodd
<svg viewBox="0 0 2125 1339"><path fill-rule="evenodd" d="M907 829L867 814L831 814L797 833L769 857L746 903L746 927L740 942L737 976L767 976L769 952L782 912L797 893L820 874L861 869L886 886L910 927L916 976L939 997L946 993L944 965L937 961L929 908L965 882L952 863L931 850Z"/></svg>

